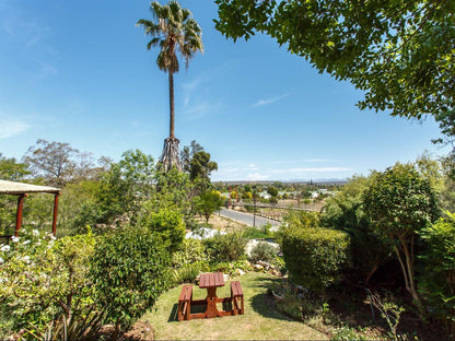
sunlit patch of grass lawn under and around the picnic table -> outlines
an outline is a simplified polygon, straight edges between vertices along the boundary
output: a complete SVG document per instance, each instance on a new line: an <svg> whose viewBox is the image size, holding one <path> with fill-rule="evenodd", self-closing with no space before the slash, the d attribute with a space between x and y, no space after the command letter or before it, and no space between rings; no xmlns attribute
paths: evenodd
<svg viewBox="0 0 455 341"><path fill-rule="evenodd" d="M182 286L163 294L155 309L145 314L158 340L328 340L328 337L311 327L294 321L270 309L264 296L276 278L250 272L240 280L245 296L245 315L222 318L197 319L178 322L177 301ZM205 298L206 291L194 285L194 299ZM228 283L218 289L219 297L230 296Z"/></svg>

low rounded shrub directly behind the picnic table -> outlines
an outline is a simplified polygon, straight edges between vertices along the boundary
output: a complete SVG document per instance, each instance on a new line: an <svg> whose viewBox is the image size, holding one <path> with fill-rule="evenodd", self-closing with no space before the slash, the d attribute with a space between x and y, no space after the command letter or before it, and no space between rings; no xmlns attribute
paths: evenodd
<svg viewBox="0 0 455 341"><path fill-rule="evenodd" d="M235 261L245 256L247 239L240 232L217 235L203 240L212 262Z"/></svg>

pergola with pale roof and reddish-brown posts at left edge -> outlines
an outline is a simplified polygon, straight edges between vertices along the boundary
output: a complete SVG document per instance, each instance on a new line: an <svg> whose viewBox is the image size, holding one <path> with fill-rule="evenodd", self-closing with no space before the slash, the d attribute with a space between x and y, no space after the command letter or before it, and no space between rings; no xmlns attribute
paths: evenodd
<svg viewBox="0 0 455 341"><path fill-rule="evenodd" d="M57 209L58 197L61 195L60 188L37 186L24 183L0 180L0 195L18 196L18 210L15 215L15 231L14 235L19 235L19 231L22 226L22 211L24 208L24 198L28 197L28 193L50 193L54 195L54 217L52 217L52 235L57 234Z"/></svg>

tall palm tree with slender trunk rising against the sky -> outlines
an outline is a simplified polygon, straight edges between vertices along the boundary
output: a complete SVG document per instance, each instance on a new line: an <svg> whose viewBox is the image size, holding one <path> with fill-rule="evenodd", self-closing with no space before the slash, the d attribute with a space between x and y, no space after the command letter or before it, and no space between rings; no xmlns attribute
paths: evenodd
<svg viewBox="0 0 455 341"><path fill-rule="evenodd" d="M199 24L191 16L191 12L183 9L177 1L170 1L161 5L158 1L150 3L153 21L141 19L136 25L142 25L145 35L152 36L147 45L150 50L154 46L160 47L156 63L160 70L167 72L170 83L170 137L164 140L163 153L160 163L163 164L164 170L172 169L173 166L182 170L180 160L178 157L179 141L174 134L174 73L178 72L179 64L177 51L185 59L185 64L197 54L203 52L202 31Z"/></svg>

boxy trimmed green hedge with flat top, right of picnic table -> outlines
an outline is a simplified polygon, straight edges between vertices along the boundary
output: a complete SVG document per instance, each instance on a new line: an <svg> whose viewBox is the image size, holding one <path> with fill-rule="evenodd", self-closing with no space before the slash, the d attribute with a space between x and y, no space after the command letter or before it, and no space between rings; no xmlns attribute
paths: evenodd
<svg viewBox="0 0 455 341"><path fill-rule="evenodd" d="M282 252L294 283L320 292L330 285L348 261L349 235L341 231L285 228Z"/></svg>

